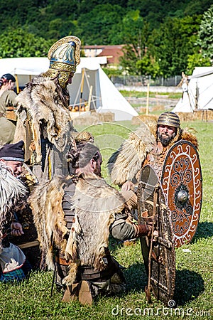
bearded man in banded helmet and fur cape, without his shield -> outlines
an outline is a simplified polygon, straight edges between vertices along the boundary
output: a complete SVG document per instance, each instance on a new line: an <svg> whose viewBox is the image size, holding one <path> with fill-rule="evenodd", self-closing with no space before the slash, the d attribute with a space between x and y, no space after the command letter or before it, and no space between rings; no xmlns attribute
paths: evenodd
<svg viewBox="0 0 213 320"><path fill-rule="evenodd" d="M180 128L180 119L174 112L163 112L157 123L141 124L111 155L108 161L111 181L121 186L123 191L136 192L141 167L146 164L153 166L160 179L168 150L181 139L198 147L195 135Z"/></svg>

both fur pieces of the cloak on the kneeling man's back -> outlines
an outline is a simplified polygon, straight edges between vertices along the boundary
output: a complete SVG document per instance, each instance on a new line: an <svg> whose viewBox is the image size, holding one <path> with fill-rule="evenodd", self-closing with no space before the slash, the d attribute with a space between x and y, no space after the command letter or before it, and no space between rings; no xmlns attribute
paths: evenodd
<svg viewBox="0 0 213 320"><path fill-rule="evenodd" d="M54 178L43 186L36 186L30 203L48 267L53 268L54 243L70 262L70 271L63 281L72 284L80 265L98 271L107 268L102 258L108 247L109 225L114 221L114 215L126 205L119 191L111 188L103 178L81 176L70 203L75 206L75 218L71 230L67 230L62 211L64 183L68 182ZM65 240L67 233L69 238Z"/></svg>

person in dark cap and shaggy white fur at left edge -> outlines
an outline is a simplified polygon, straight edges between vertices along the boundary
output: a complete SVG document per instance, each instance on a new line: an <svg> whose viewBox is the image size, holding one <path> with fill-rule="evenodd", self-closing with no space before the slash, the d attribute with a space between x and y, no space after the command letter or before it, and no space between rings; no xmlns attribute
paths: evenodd
<svg viewBox="0 0 213 320"><path fill-rule="evenodd" d="M21 280L31 270L26 255L12 243L13 238L24 235L16 217L28 196L26 186L18 179L23 161L23 141L0 147L0 282Z"/></svg>

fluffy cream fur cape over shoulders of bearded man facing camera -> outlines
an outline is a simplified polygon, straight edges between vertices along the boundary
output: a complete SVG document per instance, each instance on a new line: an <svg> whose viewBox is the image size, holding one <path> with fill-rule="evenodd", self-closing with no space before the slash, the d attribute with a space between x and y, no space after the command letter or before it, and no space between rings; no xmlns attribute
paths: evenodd
<svg viewBox="0 0 213 320"><path fill-rule="evenodd" d="M146 155L151 152L157 137L157 122L141 124L135 132L131 132L120 148L109 158L107 168L111 182L122 185L126 181L136 182L136 174L141 169ZM198 148L197 138L190 129L180 129L172 144L179 140L192 142Z"/></svg>

